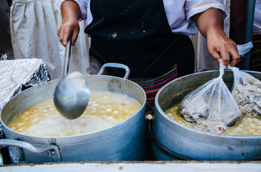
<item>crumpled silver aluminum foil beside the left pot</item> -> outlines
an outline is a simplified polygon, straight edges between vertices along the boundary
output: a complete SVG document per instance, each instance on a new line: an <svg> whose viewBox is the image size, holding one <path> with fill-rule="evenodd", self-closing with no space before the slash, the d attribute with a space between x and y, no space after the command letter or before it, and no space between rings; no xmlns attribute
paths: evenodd
<svg viewBox="0 0 261 172"><path fill-rule="evenodd" d="M0 110L12 96L21 92L22 85L35 86L49 80L42 59L0 61Z"/></svg>

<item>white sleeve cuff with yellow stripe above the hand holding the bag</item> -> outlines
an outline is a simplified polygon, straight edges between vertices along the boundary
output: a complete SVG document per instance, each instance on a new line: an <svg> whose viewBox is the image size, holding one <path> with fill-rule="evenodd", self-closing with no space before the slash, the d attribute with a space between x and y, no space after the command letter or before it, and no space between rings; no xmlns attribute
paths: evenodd
<svg viewBox="0 0 261 172"><path fill-rule="evenodd" d="M191 17L209 8L221 9L223 11L223 18L225 19L227 16L223 0L204 0L204 1L186 0L184 4L184 8L185 8L187 19L193 26L196 26L196 24L191 19Z"/></svg>

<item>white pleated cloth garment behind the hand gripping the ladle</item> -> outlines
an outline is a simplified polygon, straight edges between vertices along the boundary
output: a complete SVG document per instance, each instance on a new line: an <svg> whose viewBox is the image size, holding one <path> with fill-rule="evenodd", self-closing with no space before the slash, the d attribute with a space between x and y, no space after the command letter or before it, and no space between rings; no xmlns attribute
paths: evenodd
<svg viewBox="0 0 261 172"><path fill-rule="evenodd" d="M61 24L59 0L13 0L10 28L14 58L40 58L59 65L62 72L65 47L57 35ZM72 46L69 72L87 75L90 38L83 32L84 22L79 24L80 33Z"/></svg>

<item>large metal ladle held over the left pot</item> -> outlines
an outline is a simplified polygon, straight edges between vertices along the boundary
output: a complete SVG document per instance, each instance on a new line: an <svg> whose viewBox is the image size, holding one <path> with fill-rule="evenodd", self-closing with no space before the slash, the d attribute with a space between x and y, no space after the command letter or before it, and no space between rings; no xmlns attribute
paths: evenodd
<svg viewBox="0 0 261 172"><path fill-rule="evenodd" d="M80 72L68 73L72 39L69 37L65 47L63 77L53 93L53 102L58 112L67 119L75 119L83 114L89 99L90 87Z"/></svg>

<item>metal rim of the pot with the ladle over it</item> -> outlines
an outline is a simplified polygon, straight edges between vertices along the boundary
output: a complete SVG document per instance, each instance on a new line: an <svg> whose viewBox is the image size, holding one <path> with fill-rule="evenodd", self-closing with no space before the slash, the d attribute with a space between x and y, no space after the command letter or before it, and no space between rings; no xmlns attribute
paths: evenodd
<svg viewBox="0 0 261 172"><path fill-rule="evenodd" d="M103 77L103 78L104 78L104 77L107 77L107 78L110 78L110 79L112 79L112 78L117 78L117 79L124 80L124 81L127 80L127 79L120 78L120 77L117 77L117 76L108 76L108 75L84 75L84 77L93 77L93 78L96 78L96 77ZM108 80L110 80L110 79L108 79ZM38 84L38 85L36 85L36 86L30 87L30 88L24 90L23 92L28 92L28 91L30 91L30 89L34 89L35 87L42 86L42 85L44 85L44 84L46 84L46 83L58 82L58 80L60 80L60 79L51 80L51 81L47 81L47 82L42 83L42 84ZM140 112L142 112L142 111L144 111L144 113L141 113L142 115L141 115L137 120L139 120L140 118L142 118L143 115L144 115L144 118L145 118L145 113L146 113L146 108L145 108L145 105L146 105L146 94L145 94L145 91L144 91L144 90L142 89L142 87L139 86L137 83L134 83L134 82L131 81L131 80L127 80L127 81L128 81L128 82L131 82L132 84L135 84L135 86L137 86L138 89L141 89L141 90L142 90L142 94L143 94L143 96L144 96L143 104L141 104L141 108L140 108L136 113L134 113L130 118L127 118L127 119L125 119L124 121L119 122L119 123L117 123L116 125L113 125L113 126L111 126L111 127L109 127L109 128L104 128L104 129L99 130L99 131L93 131L93 132L90 132L90 133L80 134L80 135L52 136L52 137L49 137L49 136L27 135L27 134L23 134L23 133L14 131L14 130L12 130L11 128L9 128L7 125L5 125L5 123L2 121L2 112L3 112L3 109L5 109L5 106L6 106L8 103L10 103L13 99L15 99L16 96L19 95L19 94L22 93L22 92L20 92L19 94L13 96L11 99L8 100L8 102L5 103L5 105L2 107L2 109L1 109L1 111L0 111L0 123L3 125L3 128L8 129L9 132L14 132L16 135L21 135L22 137L30 137L30 138L61 139L61 138L74 138L74 137L86 136L86 135L89 135L89 136L93 136L93 135L104 135L103 133L106 133L106 132L109 131L109 130L113 130L114 128L117 128L117 127L119 127L119 126L121 126L121 125L124 126L124 124L126 124L126 123L127 123L128 121L130 121L130 120L133 120L133 118L135 118L135 117L137 116L137 114L140 113ZM124 94L124 93L122 93L122 94ZM137 100L136 100L136 101L137 101ZM139 103L140 103L140 102L139 102ZM135 121L137 121L137 120L135 120ZM133 124L134 124L134 122L131 123L131 125L133 125ZM129 125L129 126L131 126L131 125ZM129 126L124 127L123 130L125 130L125 129L128 128ZM120 130L120 131L122 131L122 130ZM118 132L120 132L120 131L118 131ZM4 133L5 133L5 131L4 131ZM108 136L114 135L114 134L115 134L115 133L107 134L107 136L105 136L105 137L108 137ZM103 137L103 138L104 138L104 137ZM87 141L87 142L88 142L88 141Z"/></svg>

